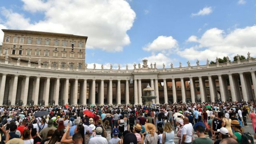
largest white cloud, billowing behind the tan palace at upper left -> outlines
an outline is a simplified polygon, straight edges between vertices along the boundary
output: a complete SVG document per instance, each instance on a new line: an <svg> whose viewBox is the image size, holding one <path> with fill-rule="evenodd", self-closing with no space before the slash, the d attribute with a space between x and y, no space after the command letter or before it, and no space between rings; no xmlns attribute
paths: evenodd
<svg viewBox="0 0 256 144"><path fill-rule="evenodd" d="M40 12L44 19L29 18L2 8L4 26L12 29L58 32L88 36L87 48L122 51L130 44L127 31L136 14L124 0L23 0L24 10ZM18 21L17 21L18 20Z"/></svg>

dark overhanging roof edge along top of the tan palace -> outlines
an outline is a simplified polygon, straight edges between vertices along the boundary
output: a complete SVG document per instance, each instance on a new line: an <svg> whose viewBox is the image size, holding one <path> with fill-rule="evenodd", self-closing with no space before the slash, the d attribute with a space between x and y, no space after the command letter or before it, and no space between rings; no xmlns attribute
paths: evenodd
<svg viewBox="0 0 256 144"><path fill-rule="evenodd" d="M2 29L3 32L20 32L20 33L34 33L34 34L46 34L46 35L53 35L53 36L70 36L70 37L77 37L77 38L85 38L87 40L88 36L77 36L74 34L61 34L61 33L54 33L54 32L39 32L39 31L32 31L32 30L8 30Z"/></svg>

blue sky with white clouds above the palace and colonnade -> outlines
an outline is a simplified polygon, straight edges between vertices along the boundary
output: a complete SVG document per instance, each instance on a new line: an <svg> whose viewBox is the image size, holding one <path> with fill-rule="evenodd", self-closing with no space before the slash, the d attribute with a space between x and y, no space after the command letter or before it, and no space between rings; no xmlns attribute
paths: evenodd
<svg viewBox="0 0 256 144"><path fill-rule="evenodd" d="M88 36L88 68L256 57L256 0L0 0L0 28ZM0 32L0 42L3 32Z"/></svg>

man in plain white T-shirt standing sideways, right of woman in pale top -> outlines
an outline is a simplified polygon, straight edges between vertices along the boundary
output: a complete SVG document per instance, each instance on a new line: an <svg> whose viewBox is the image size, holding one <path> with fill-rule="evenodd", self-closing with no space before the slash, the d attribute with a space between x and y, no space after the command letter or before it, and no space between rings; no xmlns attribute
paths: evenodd
<svg viewBox="0 0 256 144"><path fill-rule="evenodd" d="M181 130L181 144L191 144L192 143L192 131L193 126L189 123L188 118L183 118L184 126Z"/></svg>

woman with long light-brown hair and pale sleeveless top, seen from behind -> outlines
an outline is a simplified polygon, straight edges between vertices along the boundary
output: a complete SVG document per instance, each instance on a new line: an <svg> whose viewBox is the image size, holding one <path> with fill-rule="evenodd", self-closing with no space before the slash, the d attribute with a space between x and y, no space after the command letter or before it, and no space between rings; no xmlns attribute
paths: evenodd
<svg viewBox="0 0 256 144"><path fill-rule="evenodd" d="M164 124L162 144L174 144L174 131L170 122Z"/></svg>

